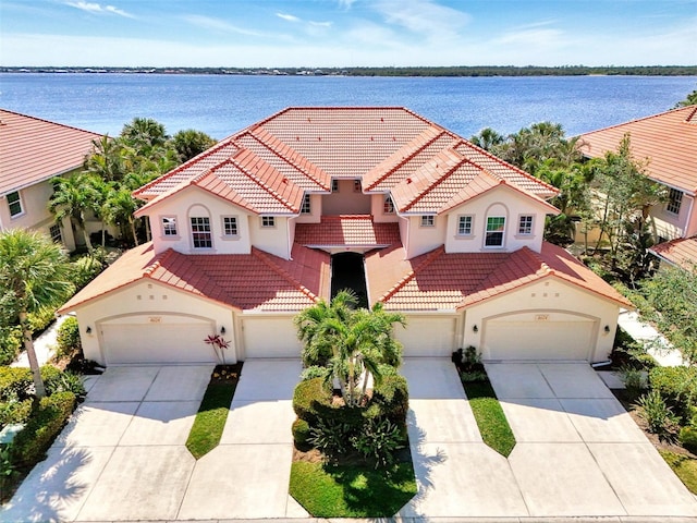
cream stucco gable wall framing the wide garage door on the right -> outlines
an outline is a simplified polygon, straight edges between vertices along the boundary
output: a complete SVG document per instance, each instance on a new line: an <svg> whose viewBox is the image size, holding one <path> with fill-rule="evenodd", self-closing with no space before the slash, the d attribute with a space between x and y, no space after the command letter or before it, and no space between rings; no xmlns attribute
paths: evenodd
<svg viewBox="0 0 697 523"><path fill-rule="evenodd" d="M554 315L558 313L577 314L592 319L597 321L599 328L595 339L591 340L590 361L604 361L612 351L619 305L554 277L468 307L465 312L461 346L474 345L481 351L484 358L490 357L487 348L482 346L485 332L481 327L485 320L522 311L529 314L529 320L536 320L538 315L547 315L547 321L570 319L568 316L557 318ZM478 328L477 332L474 331L475 325ZM610 328L610 332L604 331L606 325ZM515 339L515 332L511 336ZM563 343L563 340L560 342Z"/></svg>

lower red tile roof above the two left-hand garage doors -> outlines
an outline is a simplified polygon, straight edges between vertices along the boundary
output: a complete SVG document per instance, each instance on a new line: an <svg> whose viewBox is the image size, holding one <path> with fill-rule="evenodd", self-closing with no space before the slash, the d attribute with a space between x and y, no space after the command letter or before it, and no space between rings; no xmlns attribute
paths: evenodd
<svg viewBox="0 0 697 523"><path fill-rule="evenodd" d="M237 309L297 312L328 299L329 255L294 245L292 256L284 260L257 248L248 255L156 255L148 243L125 253L60 312L146 278Z"/></svg>

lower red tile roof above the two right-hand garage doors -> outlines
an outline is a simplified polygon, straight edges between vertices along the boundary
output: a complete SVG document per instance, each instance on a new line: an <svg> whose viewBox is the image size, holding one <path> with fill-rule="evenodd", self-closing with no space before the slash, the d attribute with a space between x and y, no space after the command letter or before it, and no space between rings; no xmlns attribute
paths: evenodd
<svg viewBox="0 0 697 523"><path fill-rule="evenodd" d="M398 246L366 257L370 300L395 311L462 309L545 278L557 278L611 300L632 304L595 272L555 245L541 253L447 254L443 247L411 260Z"/></svg>

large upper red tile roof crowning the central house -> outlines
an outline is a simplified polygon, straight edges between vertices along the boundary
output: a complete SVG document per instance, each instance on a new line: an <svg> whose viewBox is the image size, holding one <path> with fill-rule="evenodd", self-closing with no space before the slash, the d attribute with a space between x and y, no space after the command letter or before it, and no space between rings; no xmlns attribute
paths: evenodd
<svg viewBox="0 0 697 523"><path fill-rule="evenodd" d="M297 214L332 179L396 195L400 212L438 214L462 203L480 175L540 202L558 191L464 138L399 107L289 108L137 190L150 208L197 185L256 214ZM550 211L553 211L551 209Z"/></svg>

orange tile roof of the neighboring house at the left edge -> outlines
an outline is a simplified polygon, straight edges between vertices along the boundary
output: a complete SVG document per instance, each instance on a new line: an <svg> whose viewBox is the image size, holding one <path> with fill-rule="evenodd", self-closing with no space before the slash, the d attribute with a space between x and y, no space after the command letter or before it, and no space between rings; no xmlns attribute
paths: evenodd
<svg viewBox="0 0 697 523"><path fill-rule="evenodd" d="M100 137L0 109L0 196L81 167Z"/></svg>

